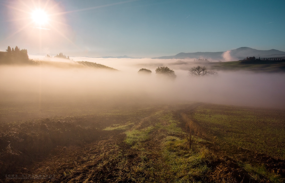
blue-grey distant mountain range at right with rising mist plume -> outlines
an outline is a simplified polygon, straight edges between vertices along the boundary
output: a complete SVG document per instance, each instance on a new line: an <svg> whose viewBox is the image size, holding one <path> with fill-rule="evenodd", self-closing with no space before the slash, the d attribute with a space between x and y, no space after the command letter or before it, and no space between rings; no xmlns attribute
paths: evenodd
<svg viewBox="0 0 285 183"><path fill-rule="evenodd" d="M263 58L285 58L285 52L279 50L256 50L249 47L241 47L235 50L225 52L195 52L195 53L178 53L174 56L161 56L152 59L188 59L188 58L205 58L209 61L236 61L243 60L246 57Z"/></svg>

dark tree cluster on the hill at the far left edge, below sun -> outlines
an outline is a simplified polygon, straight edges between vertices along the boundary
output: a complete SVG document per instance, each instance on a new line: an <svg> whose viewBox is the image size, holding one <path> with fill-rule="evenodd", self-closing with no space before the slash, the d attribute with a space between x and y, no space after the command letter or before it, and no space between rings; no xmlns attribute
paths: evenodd
<svg viewBox="0 0 285 183"><path fill-rule="evenodd" d="M18 46L11 49L10 46L6 52L1 52L0 63L2 64L27 64L29 63L28 51L26 49L20 50Z"/></svg>

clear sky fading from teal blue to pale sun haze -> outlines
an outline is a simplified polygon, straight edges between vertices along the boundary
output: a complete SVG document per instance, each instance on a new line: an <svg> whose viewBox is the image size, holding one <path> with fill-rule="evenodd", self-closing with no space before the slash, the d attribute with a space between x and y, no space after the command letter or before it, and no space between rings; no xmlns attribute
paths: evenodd
<svg viewBox="0 0 285 183"><path fill-rule="evenodd" d="M285 51L284 7L284 0L1 0L0 51L148 58L243 46ZM48 15L42 25L31 18L35 9Z"/></svg>

